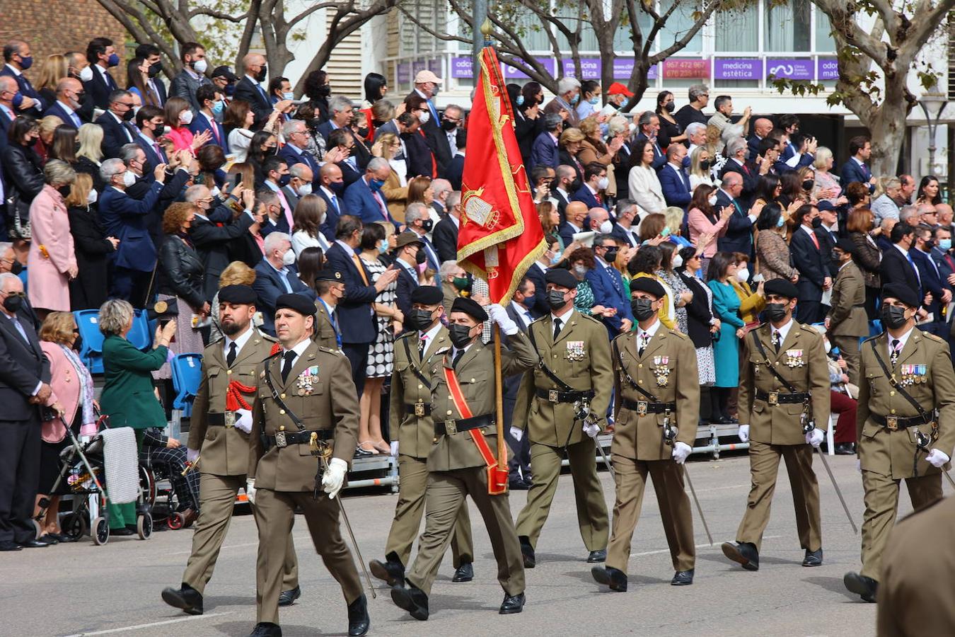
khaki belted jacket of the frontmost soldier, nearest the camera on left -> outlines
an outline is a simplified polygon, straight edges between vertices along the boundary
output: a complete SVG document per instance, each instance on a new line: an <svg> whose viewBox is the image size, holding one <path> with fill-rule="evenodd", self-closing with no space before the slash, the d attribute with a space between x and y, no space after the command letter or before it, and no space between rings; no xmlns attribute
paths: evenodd
<svg viewBox="0 0 955 637"><path fill-rule="evenodd" d="M295 434L299 431L281 409L265 384L269 371L275 391L308 431L331 430L332 457L351 462L358 444L358 393L351 380L351 365L338 350L320 348L309 343L298 357L286 382L282 381L282 356L275 355L259 366L259 389L252 413L249 454L249 477L255 477L257 488L274 491L311 491L319 458L311 455L307 444L270 447L265 451L261 434L278 431ZM307 372L310 371L310 375ZM308 390L304 380L310 378Z"/></svg>

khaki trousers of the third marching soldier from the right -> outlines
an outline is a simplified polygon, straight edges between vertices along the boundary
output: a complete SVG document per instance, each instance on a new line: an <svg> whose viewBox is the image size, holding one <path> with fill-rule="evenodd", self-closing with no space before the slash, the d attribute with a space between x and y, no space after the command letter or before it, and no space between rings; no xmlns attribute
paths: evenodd
<svg viewBox="0 0 955 637"><path fill-rule="evenodd" d="M630 540L640 519L649 474L660 503L660 518L667 534L673 569L688 571L693 568L696 563L693 514L683 485L683 467L673 460L635 460L614 456L613 471L617 477L617 501L613 505L613 532L606 549L606 565L626 573Z"/></svg>

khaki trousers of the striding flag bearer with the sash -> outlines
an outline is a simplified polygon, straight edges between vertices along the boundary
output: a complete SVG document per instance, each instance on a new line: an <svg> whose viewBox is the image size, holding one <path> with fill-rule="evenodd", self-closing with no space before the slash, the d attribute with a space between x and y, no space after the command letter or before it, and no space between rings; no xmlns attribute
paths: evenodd
<svg viewBox="0 0 955 637"><path fill-rule="evenodd" d="M498 582L508 595L522 593L524 563L514 519L511 518L511 506L506 493L499 496L488 494L487 468L483 466L429 474L424 533L418 540L418 552L406 579L426 595L431 595L431 586L435 584L437 569L448 550L465 496L471 496L484 519L498 561Z"/></svg>

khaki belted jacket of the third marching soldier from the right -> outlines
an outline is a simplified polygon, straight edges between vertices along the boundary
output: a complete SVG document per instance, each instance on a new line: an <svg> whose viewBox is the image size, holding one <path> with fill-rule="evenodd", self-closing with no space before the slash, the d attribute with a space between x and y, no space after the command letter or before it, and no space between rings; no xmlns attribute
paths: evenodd
<svg viewBox="0 0 955 637"><path fill-rule="evenodd" d="M637 332L618 336L613 346L624 361L614 353L614 396L616 397L613 444L614 456L637 460L666 460L673 448L664 442L666 414L640 415L623 406L623 399L649 400L630 385L623 370L635 383L656 396L660 402L675 402L676 411L670 413L670 424L677 427L676 441L693 446L696 424L700 413L700 379L696 372L696 350L690 338L663 325L650 339L643 356L637 350Z"/></svg>

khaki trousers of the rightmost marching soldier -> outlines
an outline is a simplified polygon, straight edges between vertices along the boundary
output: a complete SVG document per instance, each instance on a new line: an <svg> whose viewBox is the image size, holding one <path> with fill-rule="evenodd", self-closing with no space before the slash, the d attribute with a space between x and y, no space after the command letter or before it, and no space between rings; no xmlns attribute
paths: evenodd
<svg viewBox="0 0 955 637"><path fill-rule="evenodd" d="M865 514L862 516L862 570L859 574L876 581L881 577L885 541L899 513L900 481L871 471L862 472ZM905 478L905 486L916 511L942 499L941 474Z"/></svg>

